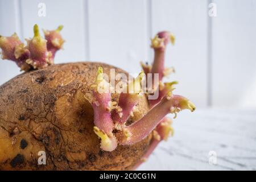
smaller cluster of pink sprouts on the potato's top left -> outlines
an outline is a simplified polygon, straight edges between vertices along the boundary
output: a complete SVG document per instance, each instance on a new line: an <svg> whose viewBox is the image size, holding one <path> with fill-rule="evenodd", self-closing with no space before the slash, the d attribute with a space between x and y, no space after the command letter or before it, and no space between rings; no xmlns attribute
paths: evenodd
<svg viewBox="0 0 256 182"><path fill-rule="evenodd" d="M0 36L2 59L14 61L22 71L45 68L53 64L56 51L62 48L64 40L60 35L63 26L56 30L44 30L44 38L39 34L39 27L34 26L34 37L26 39L27 45L14 33L9 37Z"/></svg>

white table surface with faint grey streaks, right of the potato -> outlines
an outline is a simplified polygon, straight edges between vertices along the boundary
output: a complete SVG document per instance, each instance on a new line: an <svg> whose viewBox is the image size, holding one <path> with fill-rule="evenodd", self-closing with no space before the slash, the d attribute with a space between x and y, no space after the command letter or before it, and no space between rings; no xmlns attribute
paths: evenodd
<svg viewBox="0 0 256 182"><path fill-rule="evenodd" d="M138 170L256 170L256 110L183 111L173 126L174 137ZM216 165L209 164L210 151L217 154Z"/></svg>

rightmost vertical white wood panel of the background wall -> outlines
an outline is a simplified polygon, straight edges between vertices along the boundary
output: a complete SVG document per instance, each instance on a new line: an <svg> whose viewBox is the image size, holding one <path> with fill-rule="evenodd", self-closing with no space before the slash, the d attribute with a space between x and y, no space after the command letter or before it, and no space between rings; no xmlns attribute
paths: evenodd
<svg viewBox="0 0 256 182"><path fill-rule="evenodd" d="M256 107L256 2L215 3L213 105Z"/></svg>

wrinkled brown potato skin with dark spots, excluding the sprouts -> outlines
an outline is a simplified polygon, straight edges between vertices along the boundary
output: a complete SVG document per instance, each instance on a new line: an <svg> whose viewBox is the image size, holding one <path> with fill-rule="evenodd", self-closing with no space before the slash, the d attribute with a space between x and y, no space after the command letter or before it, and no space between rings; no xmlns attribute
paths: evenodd
<svg viewBox="0 0 256 182"><path fill-rule="evenodd" d="M151 136L132 146L102 151L85 99L102 63L56 64L16 76L0 86L0 170L129 170L141 160ZM115 73L126 73L115 68ZM114 100L118 100L114 94ZM148 111L139 100L138 121ZM38 165L46 151L47 164Z"/></svg>

